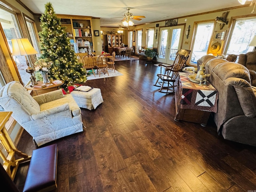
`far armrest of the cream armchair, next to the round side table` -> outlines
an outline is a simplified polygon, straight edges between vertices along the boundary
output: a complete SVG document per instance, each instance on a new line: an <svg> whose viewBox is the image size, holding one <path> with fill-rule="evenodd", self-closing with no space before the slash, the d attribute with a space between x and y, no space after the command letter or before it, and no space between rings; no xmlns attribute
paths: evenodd
<svg viewBox="0 0 256 192"><path fill-rule="evenodd" d="M64 97L63 92L61 89L59 89L59 90L51 91L38 96L34 96L33 98L34 100L36 100L36 102L38 102L39 105L41 105L43 103L48 103L50 101L54 101L63 97Z"/></svg>

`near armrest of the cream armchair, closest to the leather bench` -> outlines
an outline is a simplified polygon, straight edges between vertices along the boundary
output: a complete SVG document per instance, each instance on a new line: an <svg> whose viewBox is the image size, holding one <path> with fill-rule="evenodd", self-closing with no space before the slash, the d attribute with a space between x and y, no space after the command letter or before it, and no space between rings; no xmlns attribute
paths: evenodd
<svg viewBox="0 0 256 192"><path fill-rule="evenodd" d="M40 111L36 114L31 114L31 117L34 120L37 120L37 119L40 119L40 118L43 118L43 117L49 117L52 114L57 114L57 113L64 112L64 111L66 111L67 113L69 112L70 116L71 116L71 112L70 112L70 108L69 108L68 103L57 106L57 107L54 107L54 108L50 108L48 110Z"/></svg>

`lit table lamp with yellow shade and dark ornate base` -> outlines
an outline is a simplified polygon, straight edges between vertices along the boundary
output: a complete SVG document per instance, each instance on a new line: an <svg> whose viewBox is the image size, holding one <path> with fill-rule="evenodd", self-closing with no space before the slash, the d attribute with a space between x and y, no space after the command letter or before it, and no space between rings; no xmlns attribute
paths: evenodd
<svg viewBox="0 0 256 192"><path fill-rule="evenodd" d="M12 55L11 56L25 56L26 64L28 68L26 68L26 72L30 73L31 86L37 84L36 78L34 76L34 68L29 66L27 55L35 55L38 52L33 48L31 43L27 38L20 39L12 39Z"/></svg>

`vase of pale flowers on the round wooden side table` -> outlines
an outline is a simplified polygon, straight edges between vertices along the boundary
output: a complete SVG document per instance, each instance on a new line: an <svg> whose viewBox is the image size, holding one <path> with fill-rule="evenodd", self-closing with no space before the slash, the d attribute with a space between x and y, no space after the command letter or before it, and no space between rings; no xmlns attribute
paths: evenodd
<svg viewBox="0 0 256 192"><path fill-rule="evenodd" d="M35 63L35 71L39 71L43 78L43 83L50 83L50 80L48 79L48 71L50 66L52 65L52 62L49 62L46 59L38 59Z"/></svg>

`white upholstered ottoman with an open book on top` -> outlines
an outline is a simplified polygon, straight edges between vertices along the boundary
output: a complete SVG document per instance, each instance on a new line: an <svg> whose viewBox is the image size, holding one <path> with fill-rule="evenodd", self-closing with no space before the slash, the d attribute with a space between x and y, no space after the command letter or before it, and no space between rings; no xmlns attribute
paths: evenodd
<svg viewBox="0 0 256 192"><path fill-rule="evenodd" d="M93 88L88 92L74 90L70 94L80 108L89 110L96 109L96 107L103 102L99 88Z"/></svg>

